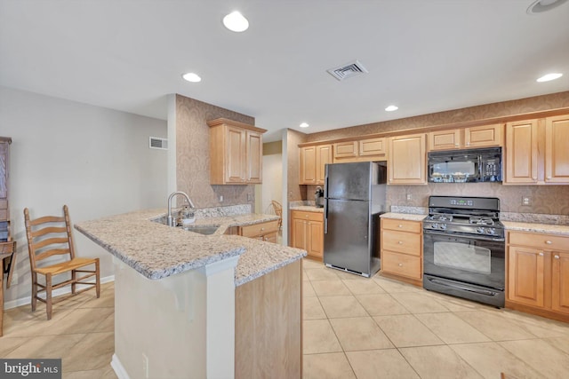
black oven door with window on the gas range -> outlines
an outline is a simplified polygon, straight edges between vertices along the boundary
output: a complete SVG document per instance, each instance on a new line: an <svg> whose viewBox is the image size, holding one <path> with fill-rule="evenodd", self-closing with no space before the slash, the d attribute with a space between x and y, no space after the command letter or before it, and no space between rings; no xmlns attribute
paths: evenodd
<svg viewBox="0 0 569 379"><path fill-rule="evenodd" d="M505 288L505 242L423 232L423 271L488 288Z"/></svg>

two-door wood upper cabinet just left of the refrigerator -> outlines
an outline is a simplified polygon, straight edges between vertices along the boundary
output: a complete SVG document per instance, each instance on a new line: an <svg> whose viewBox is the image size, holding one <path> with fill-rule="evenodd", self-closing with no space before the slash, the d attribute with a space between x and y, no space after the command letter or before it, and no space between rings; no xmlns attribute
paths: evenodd
<svg viewBox="0 0 569 379"><path fill-rule="evenodd" d="M299 158L299 184L324 185L325 164L332 163L332 145L303 146Z"/></svg>

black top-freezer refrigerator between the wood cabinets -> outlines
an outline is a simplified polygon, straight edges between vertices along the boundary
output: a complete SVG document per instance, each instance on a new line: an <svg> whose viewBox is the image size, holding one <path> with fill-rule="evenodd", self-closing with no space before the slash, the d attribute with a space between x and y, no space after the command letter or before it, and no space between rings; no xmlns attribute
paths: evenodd
<svg viewBox="0 0 569 379"><path fill-rule="evenodd" d="M371 277L380 270L380 215L386 211L385 162L325 166L324 263Z"/></svg>

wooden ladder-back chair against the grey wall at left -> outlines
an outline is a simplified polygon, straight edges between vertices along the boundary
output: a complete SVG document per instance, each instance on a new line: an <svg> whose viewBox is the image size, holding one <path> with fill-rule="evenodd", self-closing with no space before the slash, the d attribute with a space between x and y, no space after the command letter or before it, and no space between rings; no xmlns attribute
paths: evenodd
<svg viewBox="0 0 569 379"><path fill-rule="evenodd" d="M73 234L71 233L72 225L69 220L67 205L63 206L63 215L63 217L45 216L30 220L28 208L24 209L29 265L32 273L32 312L36 311L37 300L44 302L47 320L52 319L53 303L92 288L96 289L97 297L100 296L99 258L75 256L75 245L73 243ZM40 265L44 259L54 256L66 257L67 259L51 265ZM94 265L94 269L85 270L84 267L89 265ZM53 284L53 276L66 272L70 274L70 279ZM44 275L45 284L41 284L37 280L38 274ZM92 276L95 277L94 283L84 281ZM77 290L77 284L87 287ZM71 293L69 295L57 296L56 299L52 299L53 289L68 285L71 285ZM44 298L39 296L41 292L45 292Z"/></svg>

